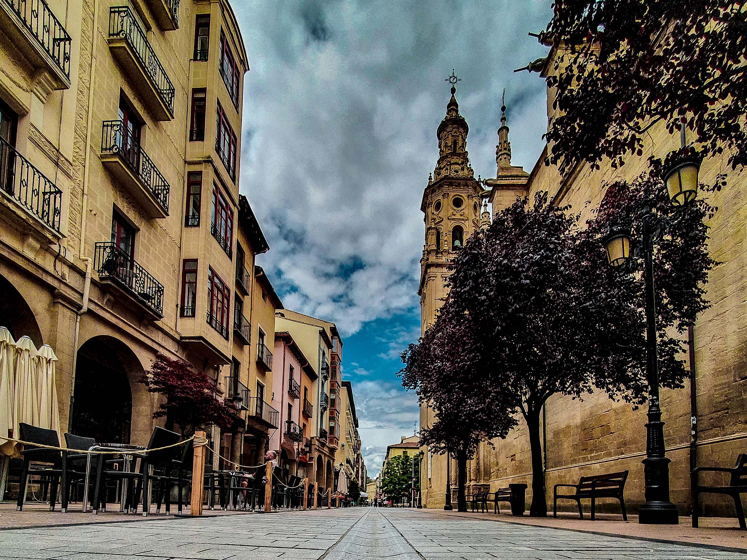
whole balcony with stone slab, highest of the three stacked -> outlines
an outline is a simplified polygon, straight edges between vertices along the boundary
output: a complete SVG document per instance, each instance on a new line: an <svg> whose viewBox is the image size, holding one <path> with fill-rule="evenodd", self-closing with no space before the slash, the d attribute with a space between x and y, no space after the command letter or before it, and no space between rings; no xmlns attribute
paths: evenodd
<svg viewBox="0 0 747 560"><path fill-rule="evenodd" d="M109 8L109 49L156 120L174 118L174 86L128 6Z"/></svg>

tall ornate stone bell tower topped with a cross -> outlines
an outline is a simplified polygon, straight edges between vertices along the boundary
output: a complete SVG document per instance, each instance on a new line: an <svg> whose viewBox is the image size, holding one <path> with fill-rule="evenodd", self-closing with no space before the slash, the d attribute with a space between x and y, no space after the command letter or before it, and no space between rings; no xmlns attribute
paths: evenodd
<svg viewBox="0 0 747 560"><path fill-rule="evenodd" d="M486 191L474 172L467 153L469 127L459 114L456 102L456 82L450 75L451 99L446 106L446 116L438 125L438 163L423 193L421 211L425 214L425 245L421 258L421 280L418 295L421 298L421 332L436 321L438 308L444 302L447 290L444 281L447 268L456 251L480 228L480 211ZM421 407L421 426L430 426L433 411ZM428 454L423 464L423 505L438 507L444 504L446 483L446 458ZM456 471L452 472L455 476ZM456 487L455 487L456 489Z"/></svg>

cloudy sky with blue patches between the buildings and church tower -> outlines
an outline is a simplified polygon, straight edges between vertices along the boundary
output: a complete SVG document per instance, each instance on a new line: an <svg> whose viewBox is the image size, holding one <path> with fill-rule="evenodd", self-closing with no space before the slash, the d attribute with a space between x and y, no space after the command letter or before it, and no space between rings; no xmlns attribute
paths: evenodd
<svg viewBox="0 0 747 560"><path fill-rule="evenodd" d="M514 73L546 49L551 0L234 0L249 54L241 192L270 243L285 307L337 323L363 452L376 476L411 435L399 352L420 335L421 196L451 69L475 173L495 176L506 89L514 164L542 151L545 86Z"/></svg>

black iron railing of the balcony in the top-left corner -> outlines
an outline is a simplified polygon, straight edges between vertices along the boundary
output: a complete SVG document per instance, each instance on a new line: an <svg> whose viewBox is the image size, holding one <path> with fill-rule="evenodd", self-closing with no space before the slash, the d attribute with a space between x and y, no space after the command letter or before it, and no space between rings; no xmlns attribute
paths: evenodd
<svg viewBox="0 0 747 560"><path fill-rule="evenodd" d="M58 68L70 77L70 38L44 0L2 0L18 16Z"/></svg>

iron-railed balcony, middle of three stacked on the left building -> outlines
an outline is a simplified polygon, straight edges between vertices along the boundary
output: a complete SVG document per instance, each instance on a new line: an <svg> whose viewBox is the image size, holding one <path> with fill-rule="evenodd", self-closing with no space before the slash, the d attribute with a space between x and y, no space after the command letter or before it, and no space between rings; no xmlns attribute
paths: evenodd
<svg viewBox="0 0 747 560"><path fill-rule="evenodd" d="M169 215L169 184L124 122L104 121L101 161L140 203L148 217Z"/></svg>

